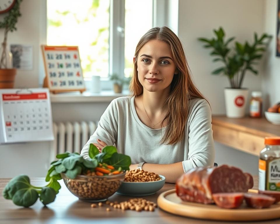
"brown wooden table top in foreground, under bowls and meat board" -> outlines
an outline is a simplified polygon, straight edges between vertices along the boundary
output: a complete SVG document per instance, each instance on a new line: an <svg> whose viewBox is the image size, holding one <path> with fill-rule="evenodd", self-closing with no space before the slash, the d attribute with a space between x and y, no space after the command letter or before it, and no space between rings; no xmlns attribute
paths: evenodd
<svg viewBox="0 0 280 224"><path fill-rule="evenodd" d="M10 178L0 178L0 223L2 224L25 224L25 223L51 223L51 224L83 224L83 223L191 223L191 224L216 224L216 223L234 223L234 222L220 222L215 220L200 220L193 218L186 218L182 216L172 215L159 208L154 212L148 211L122 211L121 209L112 209L106 211L105 205L103 207L91 208L91 203L83 202L71 194L66 188L65 184L60 181L62 188L57 194L55 202L44 207L43 204L37 201L30 208L23 208L13 204L11 200L6 200L2 196L3 188L8 183ZM258 178L254 176L254 187L257 189ZM45 184L44 178L31 178L31 184L36 186L43 186ZM155 195L143 197L147 200L156 202L160 193L174 189L174 184L166 183L164 187ZM109 198L110 201L125 201L131 197L120 196L114 194ZM111 207L112 208L112 207ZM280 220L263 221L260 223L279 223ZM248 223L248 222L246 222ZM249 222L250 223L250 222ZM252 222L255 223L255 222Z"/></svg>

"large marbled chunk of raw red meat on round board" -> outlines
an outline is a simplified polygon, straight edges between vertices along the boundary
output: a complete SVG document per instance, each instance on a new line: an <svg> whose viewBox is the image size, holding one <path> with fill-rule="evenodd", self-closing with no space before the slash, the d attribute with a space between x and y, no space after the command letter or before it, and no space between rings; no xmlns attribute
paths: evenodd
<svg viewBox="0 0 280 224"><path fill-rule="evenodd" d="M185 201L213 203L212 194L220 192L247 192L251 188L250 174L241 169L221 165L197 167L183 174L176 182L176 193Z"/></svg>

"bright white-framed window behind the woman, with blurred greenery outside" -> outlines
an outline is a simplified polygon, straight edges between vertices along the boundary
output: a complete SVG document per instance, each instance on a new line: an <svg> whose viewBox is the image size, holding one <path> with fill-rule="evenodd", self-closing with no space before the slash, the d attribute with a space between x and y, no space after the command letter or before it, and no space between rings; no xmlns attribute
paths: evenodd
<svg viewBox="0 0 280 224"><path fill-rule="evenodd" d="M82 2L47 1L47 44L79 46L84 77L101 76L104 89L109 74L132 75L136 44L153 24L156 25L153 4L157 2L162 7L166 1ZM156 12L162 14L158 8Z"/></svg>

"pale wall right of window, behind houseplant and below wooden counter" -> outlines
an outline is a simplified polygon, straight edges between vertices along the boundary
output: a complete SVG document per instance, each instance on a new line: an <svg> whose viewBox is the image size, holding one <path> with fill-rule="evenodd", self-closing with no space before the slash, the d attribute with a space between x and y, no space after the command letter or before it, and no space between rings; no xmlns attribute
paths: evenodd
<svg viewBox="0 0 280 224"><path fill-rule="evenodd" d="M274 10L275 11L275 10ZM264 31L263 0L179 0L178 36L183 42L193 79L204 96L209 99L213 114L225 114L224 88L229 87L225 76L211 75L211 71L220 66L212 62L210 50L202 47L198 37L213 37L213 29L223 27L226 38L235 36L237 41L253 40L253 33ZM259 75L247 72L243 87L250 91L261 90L262 67L257 67ZM248 105L247 105L248 107ZM232 164L252 174L258 173L258 160L239 150L219 143L216 146L218 164ZM244 157L246 155L246 157ZM241 158L246 158L246 162Z"/></svg>

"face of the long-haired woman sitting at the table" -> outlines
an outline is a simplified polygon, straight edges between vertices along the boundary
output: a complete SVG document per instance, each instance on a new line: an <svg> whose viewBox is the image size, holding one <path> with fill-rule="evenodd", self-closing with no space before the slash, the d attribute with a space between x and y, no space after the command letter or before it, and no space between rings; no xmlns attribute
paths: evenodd
<svg viewBox="0 0 280 224"><path fill-rule="evenodd" d="M138 79L149 92L169 90L174 74L178 74L170 46L159 40L148 41L139 51Z"/></svg>

